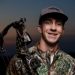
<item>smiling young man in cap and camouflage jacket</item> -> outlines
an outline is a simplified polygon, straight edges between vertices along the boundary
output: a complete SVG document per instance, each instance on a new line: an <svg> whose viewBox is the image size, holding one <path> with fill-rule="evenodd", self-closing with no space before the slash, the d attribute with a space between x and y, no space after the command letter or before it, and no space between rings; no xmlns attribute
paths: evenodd
<svg viewBox="0 0 75 75"><path fill-rule="evenodd" d="M75 75L75 59L59 47L67 20L68 17L59 8L43 9L38 26L40 41L28 50L30 56L27 66L30 74L22 60L20 70L9 68L12 71L10 75L15 75L15 72L16 75Z"/></svg>

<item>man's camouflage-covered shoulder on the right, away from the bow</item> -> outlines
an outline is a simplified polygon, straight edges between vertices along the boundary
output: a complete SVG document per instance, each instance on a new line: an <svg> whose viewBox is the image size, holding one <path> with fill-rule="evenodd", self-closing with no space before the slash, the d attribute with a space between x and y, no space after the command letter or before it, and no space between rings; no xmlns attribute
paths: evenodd
<svg viewBox="0 0 75 75"><path fill-rule="evenodd" d="M68 53L62 50L59 50L56 56L57 56L57 60L55 64L57 68L60 69L61 67L63 67L62 71L64 71L65 73L68 71L70 75L74 75L75 74L75 59L71 55L69 55Z"/></svg>

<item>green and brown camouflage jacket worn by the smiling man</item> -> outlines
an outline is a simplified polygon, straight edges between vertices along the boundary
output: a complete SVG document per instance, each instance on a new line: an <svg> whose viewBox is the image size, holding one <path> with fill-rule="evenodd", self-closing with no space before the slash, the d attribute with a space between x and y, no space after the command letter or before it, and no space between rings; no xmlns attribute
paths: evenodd
<svg viewBox="0 0 75 75"><path fill-rule="evenodd" d="M53 55L29 48L29 56L15 55L7 68L7 75L75 75L75 59L62 50Z"/></svg>

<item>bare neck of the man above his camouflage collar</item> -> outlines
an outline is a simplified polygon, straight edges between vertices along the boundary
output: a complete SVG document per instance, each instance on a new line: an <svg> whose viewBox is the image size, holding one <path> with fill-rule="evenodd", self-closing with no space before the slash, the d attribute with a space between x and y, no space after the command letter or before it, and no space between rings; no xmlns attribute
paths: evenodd
<svg viewBox="0 0 75 75"><path fill-rule="evenodd" d="M47 44L44 40L41 39L38 44L38 48L42 52L46 52L49 50L51 53L55 53L58 49L58 44Z"/></svg>

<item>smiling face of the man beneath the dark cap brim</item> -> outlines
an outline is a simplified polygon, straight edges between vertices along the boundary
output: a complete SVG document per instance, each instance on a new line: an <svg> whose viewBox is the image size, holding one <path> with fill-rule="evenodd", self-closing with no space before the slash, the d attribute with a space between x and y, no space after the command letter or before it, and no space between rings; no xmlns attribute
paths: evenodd
<svg viewBox="0 0 75 75"><path fill-rule="evenodd" d="M50 44L55 44L62 36L64 26L60 20L50 18L42 23L39 30L44 41Z"/></svg>

